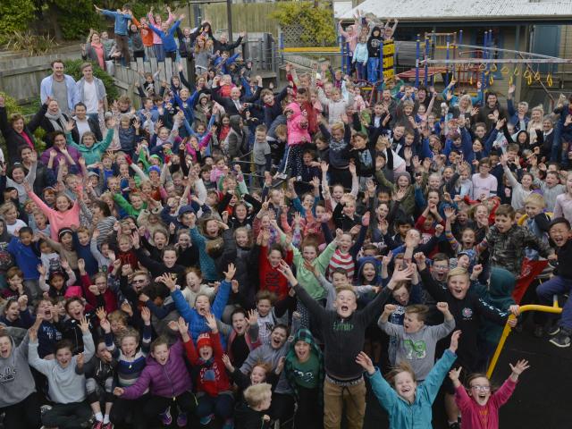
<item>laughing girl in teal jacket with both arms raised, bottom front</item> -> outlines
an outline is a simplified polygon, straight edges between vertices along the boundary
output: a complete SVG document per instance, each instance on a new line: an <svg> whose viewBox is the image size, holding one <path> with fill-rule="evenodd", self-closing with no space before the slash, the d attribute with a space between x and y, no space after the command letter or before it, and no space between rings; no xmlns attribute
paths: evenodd
<svg viewBox="0 0 572 429"><path fill-rule="evenodd" d="M364 367L367 378L372 384L377 400L390 416L390 429L426 429L433 427L433 400L447 375L450 366L455 362L460 331L455 331L450 338L450 347L437 361L425 382L417 386L415 374L408 364L401 363L388 375L393 385L386 382L378 368L374 367L363 351L357 355L357 364Z"/></svg>

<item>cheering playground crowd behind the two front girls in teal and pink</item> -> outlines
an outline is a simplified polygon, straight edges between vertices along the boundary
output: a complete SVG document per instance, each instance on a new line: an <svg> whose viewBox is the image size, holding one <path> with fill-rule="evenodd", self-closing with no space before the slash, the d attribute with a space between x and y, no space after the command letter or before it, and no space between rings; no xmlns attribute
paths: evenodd
<svg viewBox="0 0 572 429"><path fill-rule="evenodd" d="M29 122L0 97L4 428L359 429L368 385L391 428L431 427L440 389L449 427L498 428L528 368L492 390L501 327L572 286L572 98L386 81L367 106L328 63L274 92L208 22L100 12L128 63L192 55L196 84L106 100L92 31ZM358 79L396 26L343 31ZM570 346L570 301L532 322Z"/></svg>

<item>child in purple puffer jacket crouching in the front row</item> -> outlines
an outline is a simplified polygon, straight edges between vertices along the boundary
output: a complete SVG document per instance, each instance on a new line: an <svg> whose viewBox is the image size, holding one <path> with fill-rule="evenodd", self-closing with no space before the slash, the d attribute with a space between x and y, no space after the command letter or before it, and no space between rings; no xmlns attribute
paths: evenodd
<svg viewBox="0 0 572 429"><path fill-rule="evenodd" d="M114 389L114 395L134 400L147 391L151 395L143 413L149 418L160 414L165 426L172 424L171 408L177 406L177 425L187 426L187 414L197 407L195 395L191 392L192 382L185 365L185 349L182 342L175 342L171 348L166 338L159 337L151 343L151 354L147 366L139 379L130 387Z"/></svg>

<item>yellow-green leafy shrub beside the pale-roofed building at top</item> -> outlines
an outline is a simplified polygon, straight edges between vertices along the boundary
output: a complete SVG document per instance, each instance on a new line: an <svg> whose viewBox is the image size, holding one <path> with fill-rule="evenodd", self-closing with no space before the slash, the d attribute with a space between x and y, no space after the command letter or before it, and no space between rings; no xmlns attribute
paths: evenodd
<svg viewBox="0 0 572 429"><path fill-rule="evenodd" d="M299 24L304 29L300 40L315 46L331 46L336 43L332 9L315 7L313 2L278 4L278 10L270 14L282 27Z"/></svg>

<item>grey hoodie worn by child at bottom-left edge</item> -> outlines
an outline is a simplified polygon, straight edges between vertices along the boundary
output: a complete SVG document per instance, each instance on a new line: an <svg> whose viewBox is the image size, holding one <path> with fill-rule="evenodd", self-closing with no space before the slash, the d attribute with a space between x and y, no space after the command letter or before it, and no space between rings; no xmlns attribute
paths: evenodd
<svg viewBox="0 0 572 429"><path fill-rule="evenodd" d="M12 337L10 341L12 352L0 357L0 408L17 404L36 391L28 365L28 334L18 347Z"/></svg>

